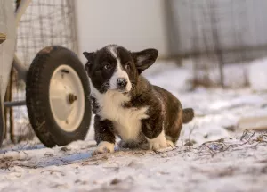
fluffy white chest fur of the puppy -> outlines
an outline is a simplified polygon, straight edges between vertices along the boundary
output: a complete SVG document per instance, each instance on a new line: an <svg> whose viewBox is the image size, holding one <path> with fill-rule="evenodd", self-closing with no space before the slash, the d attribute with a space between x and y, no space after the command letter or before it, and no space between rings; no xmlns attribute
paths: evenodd
<svg viewBox="0 0 267 192"><path fill-rule="evenodd" d="M116 91L108 91L105 94L93 94L99 105L99 115L103 119L113 121L119 136L125 141L135 140L141 130L141 120L147 119L148 107L125 108L123 104L130 98Z"/></svg>

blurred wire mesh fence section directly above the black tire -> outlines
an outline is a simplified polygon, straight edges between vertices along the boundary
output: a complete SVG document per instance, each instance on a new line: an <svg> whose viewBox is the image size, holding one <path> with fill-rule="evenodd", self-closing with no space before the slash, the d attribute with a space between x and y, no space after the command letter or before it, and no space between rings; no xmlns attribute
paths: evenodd
<svg viewBox="0 0 267 192"><path fill-rule="evenodd" d="M31 1L20 21L16 50L25 65L45 46L65 46L77 53L74 4L71 0Z"/></svg>

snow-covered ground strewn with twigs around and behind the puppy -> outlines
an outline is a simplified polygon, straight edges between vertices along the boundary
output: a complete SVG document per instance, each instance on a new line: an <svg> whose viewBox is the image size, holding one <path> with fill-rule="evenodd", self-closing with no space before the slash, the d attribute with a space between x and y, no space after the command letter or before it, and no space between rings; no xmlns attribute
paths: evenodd
<svg viewBox="0 0 267 192"><path fill-rule="evenodd" d="M45 148L38 139L0 150L0 191L267 191L267 136L238 128L241 117L267 115L267 92L198 88L190 72L157 63L145 75L171 91L196 118L175 148L92 156L85 141ZM93 122L92 122L93 123Z"/></svg>

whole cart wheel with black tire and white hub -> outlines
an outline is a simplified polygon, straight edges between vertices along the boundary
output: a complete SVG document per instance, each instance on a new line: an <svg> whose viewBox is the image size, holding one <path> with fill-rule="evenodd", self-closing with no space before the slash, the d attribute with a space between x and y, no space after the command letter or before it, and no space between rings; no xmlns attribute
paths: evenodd
<svg viewBox="0 0 267 192"><path fill-rule="evenodd" d="M26 104L44 146L85 139L91 122L90 87L77 55L61 46L41 50L28 71Z"/></svg>

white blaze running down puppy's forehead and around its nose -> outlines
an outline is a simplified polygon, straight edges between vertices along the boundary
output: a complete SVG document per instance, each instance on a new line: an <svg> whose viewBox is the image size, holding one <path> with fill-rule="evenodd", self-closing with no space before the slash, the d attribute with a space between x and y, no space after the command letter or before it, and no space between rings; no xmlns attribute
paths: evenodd
<svg viewBox="0 0 267 192"><path fill-rule="evenodd" d="M114 47L114 46L111 46L111 47L109 48L110 53L111 53L111 54L116 58L116 60L117 60L117 67L116 67L116 70L114 71L114 73L113 73L113 75L112 75L112 77L111 77L111 79L110 79L110 81L109 81L109 85L110 85L109 88L110 88L111 90L116 90L116 89L117 89L117 79L119 79L119 78L124 78L124 79L127 80L127 86L126 86L126 88L125 88L125 91L126 91L126 92L129 92L129 91L131 90L131 88L132 88L132 84L131 84L131 82L130 82L130 79L129 79L128 74L126 73L126 71L124 71L124 70L122 69L120 60L119 60L119 58L118 58L118 56L117 56L117 54L116 54L116 52L115 52L115 49L116 49L116 47Z"/></svg>

